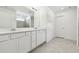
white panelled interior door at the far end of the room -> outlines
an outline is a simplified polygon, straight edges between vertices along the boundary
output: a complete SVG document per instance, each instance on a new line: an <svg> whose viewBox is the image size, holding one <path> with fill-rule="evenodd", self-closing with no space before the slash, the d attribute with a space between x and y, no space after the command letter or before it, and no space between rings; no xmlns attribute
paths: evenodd
<svg viewBox="0 0 79 59"><path fill-rule="evenodd" d="M56 36L64 38L64 18L63 16L58 16L56 18Z"/></svg>

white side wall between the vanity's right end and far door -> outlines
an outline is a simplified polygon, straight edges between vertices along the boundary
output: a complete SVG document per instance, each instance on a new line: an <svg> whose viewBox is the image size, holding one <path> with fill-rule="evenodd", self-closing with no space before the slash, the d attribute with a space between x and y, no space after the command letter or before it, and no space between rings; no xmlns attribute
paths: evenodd
<svg viewBox="0 0 79 59"><path fill-rule="evenodd" d="M47 9L47 42L54 39L55 36L55 13L51 9Z"/></svg>

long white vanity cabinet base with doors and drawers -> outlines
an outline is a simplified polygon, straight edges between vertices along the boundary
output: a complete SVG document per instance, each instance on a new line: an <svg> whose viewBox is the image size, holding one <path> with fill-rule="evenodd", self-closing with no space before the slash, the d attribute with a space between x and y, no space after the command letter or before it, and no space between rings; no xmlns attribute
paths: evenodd
<svg viewBox="0 0 79 59"><path fill-rule="evenodd" d="M46 29L0 34L0 53L25 53L46 41Z"/></svg>

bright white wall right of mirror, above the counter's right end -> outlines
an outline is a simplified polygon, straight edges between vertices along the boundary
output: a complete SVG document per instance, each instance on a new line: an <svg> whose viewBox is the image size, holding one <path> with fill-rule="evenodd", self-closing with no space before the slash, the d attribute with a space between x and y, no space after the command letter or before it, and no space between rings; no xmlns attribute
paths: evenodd
<svg viewBox="0 0 79 59"><path fill-rule="evenodd" d="M47 11L45 7L35 7L37 11L34 13L34 26L46 27L47 26Z"/></svg>

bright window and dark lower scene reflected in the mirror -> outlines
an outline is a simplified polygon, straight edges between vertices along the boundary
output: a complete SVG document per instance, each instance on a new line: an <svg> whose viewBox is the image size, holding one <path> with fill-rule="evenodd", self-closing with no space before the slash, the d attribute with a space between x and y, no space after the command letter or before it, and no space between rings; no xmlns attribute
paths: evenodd
<svg viewBox="0 0 79 59"><path fill-rule="evenodd" d="M16 12L16 24L17 28L34 27L34 16L23 12Z"/></svg>

